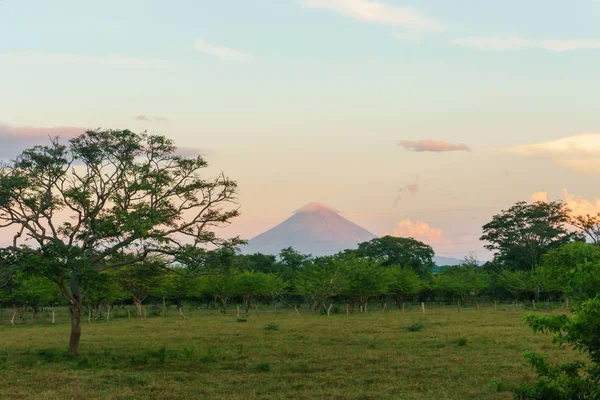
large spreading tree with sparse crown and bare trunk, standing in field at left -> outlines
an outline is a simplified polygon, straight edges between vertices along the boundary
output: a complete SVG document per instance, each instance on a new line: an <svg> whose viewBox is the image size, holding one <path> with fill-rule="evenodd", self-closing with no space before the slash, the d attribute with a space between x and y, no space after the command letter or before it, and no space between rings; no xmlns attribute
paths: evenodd
<svg viewBox="0 0 600 400"><path fill-rule="evenodd" d="M212 231L238 215L236 184L201 177L206 166L164 136L94 130L51 139L0 170L0 227L16 232L8 250L30 257L69 302L71 354L86 279L153 254L185 264L207 244L239 244Z"/></svg>

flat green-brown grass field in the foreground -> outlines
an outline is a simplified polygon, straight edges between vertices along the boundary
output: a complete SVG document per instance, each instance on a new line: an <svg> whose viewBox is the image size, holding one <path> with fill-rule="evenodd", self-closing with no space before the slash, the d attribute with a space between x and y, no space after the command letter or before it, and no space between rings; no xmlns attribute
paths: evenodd
<svg viewBox="0 0 600 400"><path fill-rule="evenodd" d="M509 399L493 381L531 379L524 350L577 357L523 326L525 311L488 306L86 321L73 360L65 312L13 327L4 311L1 399Z"/></svg>

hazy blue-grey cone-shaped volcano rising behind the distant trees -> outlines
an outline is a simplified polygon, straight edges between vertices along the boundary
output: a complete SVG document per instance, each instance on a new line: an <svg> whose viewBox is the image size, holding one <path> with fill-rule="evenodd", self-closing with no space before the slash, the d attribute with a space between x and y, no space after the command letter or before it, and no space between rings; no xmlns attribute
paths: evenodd
<svg viewBox="0 0 600 400"><path fill-rule="evenodd" d="M309 203L279 225L250 239L244 254L279 254L293 247L303 254L332 255L355 249L377 236L342 217L339 211L321 203Z"/></svg>

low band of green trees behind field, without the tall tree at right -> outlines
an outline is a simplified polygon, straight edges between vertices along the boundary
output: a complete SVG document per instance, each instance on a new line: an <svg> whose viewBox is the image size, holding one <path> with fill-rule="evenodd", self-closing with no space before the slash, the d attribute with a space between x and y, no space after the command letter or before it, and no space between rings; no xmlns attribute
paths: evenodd
<svg viewBox="0 0 600 400"><path fill-rule="evenodd" d="M182 313L185 303L212 305L222 313L234 304L249 312L256 303L306 307L323 314L339 312L340 307L363 312L386 303L403 309L406 302L421 301L459 307L526 302L535 307L536 302L564 301L574 288L600 288L600 248L585 242L550 250L535 269L508 269L495 262L479 266L467 258L462 265L432 274L432 260L429 246L390 236L327 257L292 248L278 256L220 249L206 253L202 270L168 268L155 258L82 280L82 290L85 308L97 318L117 304L134 305L138 317L144 304L160 313L168 305ZM0 304L23 317L28 310L36 313L64 301L47 278L16 275L0 291Z"/></svg>

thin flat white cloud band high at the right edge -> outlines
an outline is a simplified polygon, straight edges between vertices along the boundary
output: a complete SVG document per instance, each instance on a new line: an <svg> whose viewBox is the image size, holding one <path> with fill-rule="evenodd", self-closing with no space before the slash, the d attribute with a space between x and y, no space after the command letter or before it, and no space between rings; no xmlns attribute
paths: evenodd
<svg viewBox="0 0 600 400"><path fill-rule="evenodd" d="M557 53L570 50L600 49L600 38L532 40L519 36L470 36L452 39L450 43L457 46L471 47L484 51L517 51L526 49L544 49Z"/></svg>

